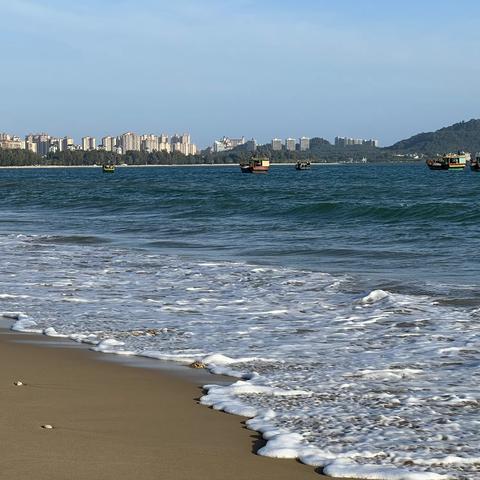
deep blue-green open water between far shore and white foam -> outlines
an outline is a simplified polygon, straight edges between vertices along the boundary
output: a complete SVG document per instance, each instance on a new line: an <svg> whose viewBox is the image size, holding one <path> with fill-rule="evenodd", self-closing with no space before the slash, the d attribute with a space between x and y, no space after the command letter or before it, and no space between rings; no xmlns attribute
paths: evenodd
<svg viewBox="0 0 480 480"><path fill-rule="evenodd" d="M480 176L469 171L31 169L0 178L1 233L347 273L361 289L476 300Z"/></svg>

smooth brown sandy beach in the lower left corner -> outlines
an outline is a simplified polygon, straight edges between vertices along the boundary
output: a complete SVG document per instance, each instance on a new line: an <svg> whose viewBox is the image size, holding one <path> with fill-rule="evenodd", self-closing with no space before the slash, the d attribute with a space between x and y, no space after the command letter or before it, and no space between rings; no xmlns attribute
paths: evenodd
<svg viewBox="0 0 480 480"><path fill-rule="evenodd" d="M1 331L1 479L326 478L255 455L262 442L244 419L198 404L207 372L103 358ZM25 385L15 386L19 380Z"/></svg>

